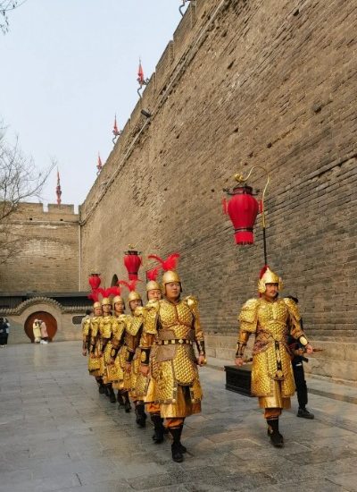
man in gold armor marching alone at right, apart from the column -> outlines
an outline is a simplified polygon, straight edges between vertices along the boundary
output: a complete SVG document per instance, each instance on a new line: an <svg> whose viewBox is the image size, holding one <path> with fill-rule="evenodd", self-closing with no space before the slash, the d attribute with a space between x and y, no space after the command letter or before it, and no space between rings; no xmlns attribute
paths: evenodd
<svg viewBox="0 0 357 492"><path fill-rule="evenodd" d="M290 408L295 393L287 336L292 335L307 353L312 352L300 324L300 313L291 299L278 299L282 281L269 267L262 269L258 282L259 299L246 301L238 320L236 364L244 364L243 355L249 336L253 345L252 393L258 396L268 423L272 445L282 447L283 436L278 430L278 418L283 408Z"/></svg>

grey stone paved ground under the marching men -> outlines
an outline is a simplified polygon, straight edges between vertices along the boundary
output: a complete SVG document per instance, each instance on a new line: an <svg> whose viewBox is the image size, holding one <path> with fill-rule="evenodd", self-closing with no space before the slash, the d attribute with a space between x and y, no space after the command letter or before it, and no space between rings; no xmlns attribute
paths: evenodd
<svg viewBox="0 0 357 492"><path fill-rule="evenodd" d="M204 368L203 413L187 420L178 464L169 440L153 445L151 426L98 394L79 352L73 342L0 349L0 492L357 491L355 404L311 394L316 419L287 411L278 450L256 400Z"/></svg>

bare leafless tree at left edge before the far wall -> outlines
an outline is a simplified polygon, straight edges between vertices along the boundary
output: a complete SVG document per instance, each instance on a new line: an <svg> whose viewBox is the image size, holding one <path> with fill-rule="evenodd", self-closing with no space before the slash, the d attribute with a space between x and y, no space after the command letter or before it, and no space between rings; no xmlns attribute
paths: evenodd
<svg viewBox="0 0 357 492"><path fill-rule="evenodd" d="M13 144L0 125L0 264L15 256L22 246L21 227L14 217L22 201L40 199L48 175L56 165L38 171L32 158L25 157L19 140Z"/></svg>

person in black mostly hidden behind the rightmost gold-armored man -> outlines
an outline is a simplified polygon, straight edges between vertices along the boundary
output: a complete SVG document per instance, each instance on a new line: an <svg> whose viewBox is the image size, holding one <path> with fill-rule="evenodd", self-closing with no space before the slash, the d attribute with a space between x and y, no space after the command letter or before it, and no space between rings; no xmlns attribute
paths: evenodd
<svg viewBox="0 0 357 492"><path fill-rule="evenodd" d="M299 300L292 295L288 295L287 297L295 301L296 304L299 302ZM301 319L300 323L303 328L303 319ZM306 408L308 400L305 373L303 371L303 361L307 361L307 359L303 357L303 345L299 344L299 342L297 342L292 336L289 336L287 344L289 345L293 356L291 363L294 372L297 401L299 403L299 410L296 415L297 417L302 417L303 419L313 419L313 413L308 411Z"/></svg>

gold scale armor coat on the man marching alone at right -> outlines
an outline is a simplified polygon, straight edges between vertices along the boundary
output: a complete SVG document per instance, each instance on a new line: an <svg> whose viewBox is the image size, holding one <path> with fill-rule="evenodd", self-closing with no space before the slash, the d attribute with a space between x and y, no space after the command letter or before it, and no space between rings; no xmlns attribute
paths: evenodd
<svg viewBox="0 0 357 492"><path fill-rule="evenodd" d="M253 345L252 394L262 408L290 408L295 393L287 335L297 340L304 336L300 314L291 299L250 299L245 302L238 320L238 344L245 346L251 334Z"/></svg>

